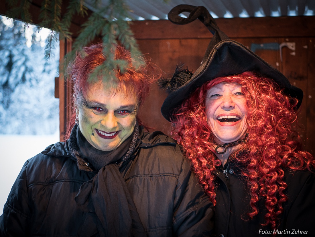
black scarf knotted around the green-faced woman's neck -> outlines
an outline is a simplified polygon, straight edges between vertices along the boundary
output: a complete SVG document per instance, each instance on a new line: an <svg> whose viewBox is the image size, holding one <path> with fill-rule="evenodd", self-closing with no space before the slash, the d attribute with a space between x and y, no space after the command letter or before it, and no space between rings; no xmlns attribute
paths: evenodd
<svg viewBox="0 0 315 237"><path fill-rule="evenodd" d="M73 127L69 138L72 140L72 146L69 146L72 155L87 159L98 171L92 180L83 183L75 197L79 208L85 212L79 236L146 236L138 211L117 166L117 162L130 158L138 134L139 126L136 124L133 134L117 149L100 151L89 144L77 125ZM74 140L77 142L74 143Z"/></svg>

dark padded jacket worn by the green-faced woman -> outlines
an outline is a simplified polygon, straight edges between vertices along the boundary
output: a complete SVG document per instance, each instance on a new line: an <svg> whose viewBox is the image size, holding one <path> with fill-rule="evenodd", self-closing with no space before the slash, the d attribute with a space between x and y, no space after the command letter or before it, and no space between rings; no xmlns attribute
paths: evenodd
<svg viewBox="0 0 315 237"><path fill-rule="evenodd" d="M148 236L209 236L213 205L175 140L140 128L131 158L118 163ZM97 172L57 142L24 164L0 217L1 236L81 236L74 200ZM90 227L95 228L95 227Z"/></svg>

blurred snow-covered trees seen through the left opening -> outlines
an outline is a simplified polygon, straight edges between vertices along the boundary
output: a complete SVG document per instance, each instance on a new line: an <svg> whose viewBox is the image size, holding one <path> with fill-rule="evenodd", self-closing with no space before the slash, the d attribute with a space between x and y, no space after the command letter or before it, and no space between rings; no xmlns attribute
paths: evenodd
<svg viewBox="0 0 315 237"><path fill-rule="evenodd" d="M0 16L0 134L48 135L59 131L54 98L59 45L45 59L48 29L24 27Z"/></svg>

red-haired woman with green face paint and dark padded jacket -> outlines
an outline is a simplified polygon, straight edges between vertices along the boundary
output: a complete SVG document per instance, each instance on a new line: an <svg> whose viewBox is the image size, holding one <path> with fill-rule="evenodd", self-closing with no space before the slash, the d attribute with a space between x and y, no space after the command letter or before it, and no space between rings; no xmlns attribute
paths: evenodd
<svg viewBox="0 0 315 237"><path fill-rule="evenodd" d="M84 48L69 67L68 138L25 163L0 217L1 236L211 235L213 205L180 147L140 125L157 75L114 47L115 59L128 64L123 72L98 69L102 44Z"/></svg>

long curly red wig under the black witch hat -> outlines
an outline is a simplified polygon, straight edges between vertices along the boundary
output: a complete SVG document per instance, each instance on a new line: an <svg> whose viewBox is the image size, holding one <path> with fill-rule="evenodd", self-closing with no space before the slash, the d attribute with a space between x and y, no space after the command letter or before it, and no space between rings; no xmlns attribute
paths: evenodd
<svg viewBox="0 0 315 237"><path fill-rule="evenodd" d="M311 170L315 166L312 155L301 150L301 139L294 131L297 100L282 94L272 80L245 72L206 82L183 101L174 113L172 134L183 147L200 184L214 204L214 162L217 158L213 152L215 142L207 124L204 101L207 90L221 82L240 84L248 108L248 139L241 148L246 155L235 156L236 151L230 157L245 167L241 172L251 195L251 210L247 215L249 219L257 215L257 202L264 198L266 223L261 224L271 224L275 229L283 212L283 203L287 200L284 169Z"/></svg>

